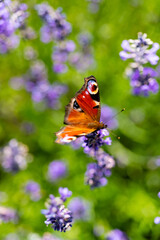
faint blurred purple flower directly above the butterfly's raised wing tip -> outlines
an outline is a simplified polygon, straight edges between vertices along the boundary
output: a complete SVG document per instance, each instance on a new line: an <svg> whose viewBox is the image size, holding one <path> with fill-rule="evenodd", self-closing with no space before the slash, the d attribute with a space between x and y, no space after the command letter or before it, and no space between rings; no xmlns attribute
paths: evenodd
<svg viewBox="0 0 160 240"><path fill-rule="evenodd" d="M93 59L91 49L91 36L89 34L79 34L78 42L80 45L80 51L73 52L69 56L69 61L77 71L85 72L87 69L93 69L95 67L95 61Z"/></svg>

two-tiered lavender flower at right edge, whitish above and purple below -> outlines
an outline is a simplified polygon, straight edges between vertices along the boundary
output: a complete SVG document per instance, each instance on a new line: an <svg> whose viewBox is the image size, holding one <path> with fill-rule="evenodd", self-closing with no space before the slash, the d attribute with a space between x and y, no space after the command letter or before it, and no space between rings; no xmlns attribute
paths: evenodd
<svg viewBox="0 0 160 240"><path fill-rule="evenodd" d="M147 34L138 33L138 39L124 40L121 46L123 48L120 52L121 59L133 59L134 61L126 70L131 80L133 94L148 96L149 92L157 93L159 90L159 84L155 80L157 73L150 67L144 67L144 64L156 65L158 63L159 57L156 52L159 44L153 43L147 38Z"/></svg>

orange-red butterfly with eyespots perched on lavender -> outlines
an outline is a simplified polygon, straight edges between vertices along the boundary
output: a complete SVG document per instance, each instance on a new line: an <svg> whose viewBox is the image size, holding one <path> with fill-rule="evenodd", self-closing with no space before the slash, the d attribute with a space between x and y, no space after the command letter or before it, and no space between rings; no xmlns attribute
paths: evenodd
<svg viewBox="0 0 160 240"><path fill-rule="evenodd" d="M67 126L56 133L57 143L69 143L80 136L107 127L100 122L101 106L96 78L90 76L84 78L84 82L82 88L65 107L64 124Z"/></svg>

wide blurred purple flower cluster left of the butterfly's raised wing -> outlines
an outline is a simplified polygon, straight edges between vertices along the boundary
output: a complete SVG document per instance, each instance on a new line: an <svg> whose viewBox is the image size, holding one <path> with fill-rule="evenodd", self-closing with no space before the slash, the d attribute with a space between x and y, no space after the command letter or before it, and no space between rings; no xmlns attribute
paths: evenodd
<svg viewBox="0 0 160 240"><path fill-rule="evenodd" d="M18 87L17 87L18 82ZM42 61L34 61L29 71L22 77L10 80L14 89L26 88L31 93L34 102L41 102L45 108L57 109L60 107L59 98L68 90L66 85L60 83L50 84L47 70Z"/></svg>

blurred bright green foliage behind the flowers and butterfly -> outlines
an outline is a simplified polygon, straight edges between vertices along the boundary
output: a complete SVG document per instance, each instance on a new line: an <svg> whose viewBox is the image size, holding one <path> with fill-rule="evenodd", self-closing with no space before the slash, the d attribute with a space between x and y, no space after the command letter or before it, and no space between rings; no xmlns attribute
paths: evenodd
<svg viewBox="0 0 160 240"><path fill-rule="evenodd" d="M34 10L34 4L41 1L26 1L30 9L28 20L37 33L42 26ZM0 191L8 194L2 205L16 208L20 213L18 224L1 224L0 239L11 232L29 232L42 235L53 232L44 224L40 210L50 193L57 194L58 187L68 187L73 197L82 196L92 205L92 217L88 222L77 222L67 233L55 233L64 239L104 239L95 237L93 227L102 225L104 232L119 228L130 239L160 239L160 226L154 218L160 213L159 168L153 160L160 155L160 94L148 98L131 94L129 81L124 76L128 62L119 57L121 42L135 39L138 32L146 32L154 42L160 42L160 3L159 0L102 0L96 14L88 11L85 0L48 1L54 8L62 7L67 21L72 24L69 39L77 41L77 34L90 32L97 66L94 70L79 73L69 67L65 74L52 71L52 44L43 44L39 36L32 41L22 40L20 46L6 55L0 56L0 146L10 139L28 145L33 161L24 171L12 175L0 169ZM13 76L24 74L29 61L24 59L24 48L34 47L39 59L48 69L50 82L59 81L69 86L69 92L61 98L59 110L38 111L30 94L25 90L13 90L8 82ZM159 54L159 52L158 52ZM119 128L116 131L121 139L112 137L113 144L106 148L116 159L108 185L90 190L84 184L84 173L88 163L93 162L82 149L73 150L70 146L54 142L54 132L63 123L64 107L83 84L83 78L94 75L97 78L101 102L126 111L118 115ZM158 80L160 82L160 80ZM35 132L27 135L21 130L23 122L33 123ZM57 184L46 180L48 164L52 160L65 159L69 173ZM43 197L32 202L23 192L23 184L33 179L41 184ZM22 239L25 239L23 237Z"/></svg>

